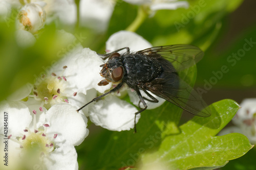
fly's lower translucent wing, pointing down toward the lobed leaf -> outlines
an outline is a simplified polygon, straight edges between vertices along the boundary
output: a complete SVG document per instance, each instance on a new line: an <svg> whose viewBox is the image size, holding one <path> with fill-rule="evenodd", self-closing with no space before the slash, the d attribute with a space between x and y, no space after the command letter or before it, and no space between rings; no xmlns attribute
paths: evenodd
<svg viewBox="0 0 256 170"><path fill-rule="evenodd" d="M174 72L146 83L146 90L192 114L201 117L210 116L207 104L201 96Z"/></svg>

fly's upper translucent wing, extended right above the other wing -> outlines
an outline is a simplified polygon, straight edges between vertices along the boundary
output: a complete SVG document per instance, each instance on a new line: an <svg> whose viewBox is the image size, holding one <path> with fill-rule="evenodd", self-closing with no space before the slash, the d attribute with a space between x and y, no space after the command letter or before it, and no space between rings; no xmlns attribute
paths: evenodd
<svg viewBox="0 0 256 170"><path fill-rule="evenodd" d="M193 45L183 44L156 46L138 51L137 53L147 55L148 57L163 57L171 62L177 71L195 65L204 56L204 53L200 48Z"/></svg>

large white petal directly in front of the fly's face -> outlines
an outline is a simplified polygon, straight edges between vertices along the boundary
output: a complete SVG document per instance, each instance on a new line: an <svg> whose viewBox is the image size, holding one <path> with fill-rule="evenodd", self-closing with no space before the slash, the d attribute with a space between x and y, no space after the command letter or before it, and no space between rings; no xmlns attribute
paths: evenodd
<svg viewBox="0 0 256 170"><path fill-rule="evenodd" d="M100 93L111 88L111 84L106 86L98 86L102 80L99 75L100 67L103 61L96 52L89 48L83 48L76 52L68 54L59 65L67 65L65 71L67 82L70 82L69 87L74 91L87 94L87 90L95 88Z"/></svg>

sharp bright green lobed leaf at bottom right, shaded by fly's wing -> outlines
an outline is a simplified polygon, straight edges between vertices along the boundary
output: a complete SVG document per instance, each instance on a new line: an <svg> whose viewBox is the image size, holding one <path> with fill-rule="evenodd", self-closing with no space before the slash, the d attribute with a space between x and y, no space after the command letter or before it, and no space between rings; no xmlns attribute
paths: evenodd
<svg viewBox="0 0 256 170"><path fill-rule="evenodd" d="M167 169L215 169L248 152L252 145L242 134L215 136L239 109L232 100L209 106L210 117L195 116L180 127L180 133L167 136L155 153L142 157L143 168L163 164Z"/></svg>

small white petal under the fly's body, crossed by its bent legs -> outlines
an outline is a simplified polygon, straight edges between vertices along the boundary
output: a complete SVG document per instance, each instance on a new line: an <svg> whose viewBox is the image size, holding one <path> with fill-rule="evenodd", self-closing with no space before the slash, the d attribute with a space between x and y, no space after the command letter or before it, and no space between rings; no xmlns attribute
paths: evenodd
<svg viewBox="0 0 256 170"><path fill-rule="evenodd" d="M132 102L135 106L138 106L140 99L139 99L137 93L134 92L134 91L132 91L131 89L127 89L127 91L128 91L128 94L129 94L129 97L130 97L131 102ZM141 92L141 95L142 95L143 97L145 97L146 99L152 100L152 99L151 99L150 97L148 97L143 91L140 90L140 92ZM149 92L151 95L153 95L153 96L158 100L158 103L152 103L152 102L149 102L149 101L146 101L146 100L145 100L146 105L147 105L147 109L155 109L155 108L161 106L161 105L165 102L164 99L162 99L162 98L160 98L159 96L153 94L152 92L150 92L150 91L147 91L147 92ZM140 102L140 108L144 108L144 106L143 106L143 104L142 104L141 102Z"/></svg>

